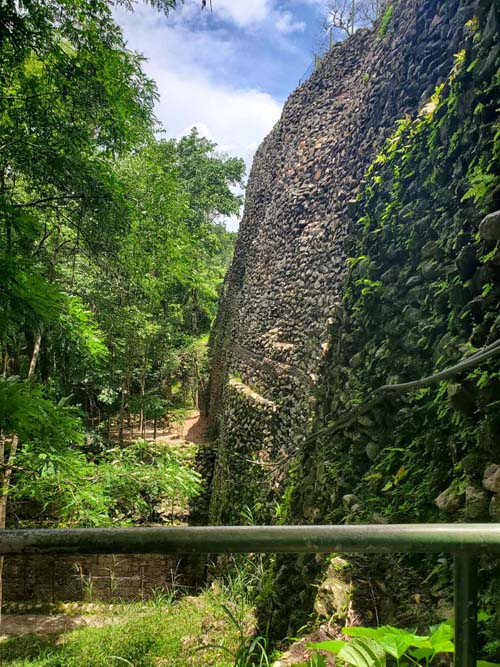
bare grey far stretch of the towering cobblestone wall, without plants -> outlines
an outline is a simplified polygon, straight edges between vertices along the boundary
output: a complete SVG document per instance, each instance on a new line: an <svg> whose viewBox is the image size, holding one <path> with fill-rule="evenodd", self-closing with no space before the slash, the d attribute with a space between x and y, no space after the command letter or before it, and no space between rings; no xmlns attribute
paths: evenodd
<svg viewBox="0 0 500 667"><path fill-rule="evenodd" d="M473 7L472 0L401 0L385 34L358 31L332 48L257 151L211 341L209 411L222 434L221 460L240 466L225 443L231 376L277 405L278 459L301 448L339 308L350 206L396 121L415 117L449 74ZM235 413L232 405L228 419L248 421L248 407ZM252 432L240 429L239 438L259 456ZM266 456L263 442L261 449ZM230 477L236 484L236 470ZM278 477L261 485L261 520L269 520L286 471ZM214 503L221 497L216 492ZM238 513L235 505L211 511L226 523Z"/></svg>

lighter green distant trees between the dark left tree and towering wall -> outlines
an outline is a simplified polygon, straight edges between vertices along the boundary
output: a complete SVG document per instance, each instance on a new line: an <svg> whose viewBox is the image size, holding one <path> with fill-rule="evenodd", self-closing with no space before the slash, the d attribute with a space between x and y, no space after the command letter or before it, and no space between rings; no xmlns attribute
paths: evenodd
<svg viewBox="0 0 500 667"><path fill-rule="evenodd" d="M105 412L120 408L121 422L130 411L160 419L177 399L192 405L203 384L205 336L233 243L218 219L239 209L230 186L240 182L243 163L192 132L149 142L119 173L129 192L129 233L112 270L96 264L76 273L111 350L104 378L92 378L84 400L95 402L105 379L116 396Z"/></svg>

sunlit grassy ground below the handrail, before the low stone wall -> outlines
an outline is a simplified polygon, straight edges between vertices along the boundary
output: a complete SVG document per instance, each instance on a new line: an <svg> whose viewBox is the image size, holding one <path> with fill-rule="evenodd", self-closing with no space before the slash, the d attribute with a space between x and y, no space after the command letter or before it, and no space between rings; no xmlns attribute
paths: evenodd
<svg viewBox="0 0 500 667"><path fill-rule="evenodd" d="M250 609L216 588L170 604L97 607L93 616L102 627L79 628L56 641L25 635L3 642L2 667L232 667L241 639L228 612L249 630Z"/></svg>

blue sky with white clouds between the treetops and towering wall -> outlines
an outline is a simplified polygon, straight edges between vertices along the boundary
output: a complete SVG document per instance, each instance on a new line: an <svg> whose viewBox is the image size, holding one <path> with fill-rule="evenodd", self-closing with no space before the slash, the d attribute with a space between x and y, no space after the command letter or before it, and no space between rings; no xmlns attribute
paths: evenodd
<svg viewBox="0 0 500 667"><path fill-rule="evenodd" d="M168 17L117 10L128 48L147 58L168 136L196 126L248 165L313 61L326 0L185 0ZM230 225L234 228L234 221Z"/></svg>

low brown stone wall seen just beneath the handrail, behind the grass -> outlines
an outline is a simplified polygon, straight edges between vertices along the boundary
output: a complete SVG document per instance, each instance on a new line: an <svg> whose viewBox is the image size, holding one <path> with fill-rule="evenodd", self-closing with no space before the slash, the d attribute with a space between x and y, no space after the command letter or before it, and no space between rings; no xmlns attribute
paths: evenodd
<svg viewBox="0 0 500 667"><path fill-rule="evenodd" d="M8 556L3 573L6 602L143 600L173 584L195 584L186 563L172 556Z"/></svg>

